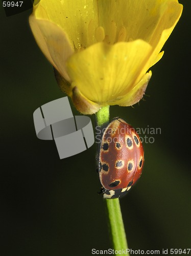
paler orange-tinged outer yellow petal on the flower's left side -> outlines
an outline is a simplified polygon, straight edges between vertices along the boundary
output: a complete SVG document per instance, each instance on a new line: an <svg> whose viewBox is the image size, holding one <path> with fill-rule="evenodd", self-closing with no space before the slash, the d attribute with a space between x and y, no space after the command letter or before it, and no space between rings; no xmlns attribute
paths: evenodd
<svg viewBox="0 0 191 256"><path fill-rule="evenodd" d="M43 54L59 73L69 81L65 62L74 53L74 49L70 45L66 33L56 24L48 20L36 19L34 15L30 16L29 22L37 44Z"/></svg>

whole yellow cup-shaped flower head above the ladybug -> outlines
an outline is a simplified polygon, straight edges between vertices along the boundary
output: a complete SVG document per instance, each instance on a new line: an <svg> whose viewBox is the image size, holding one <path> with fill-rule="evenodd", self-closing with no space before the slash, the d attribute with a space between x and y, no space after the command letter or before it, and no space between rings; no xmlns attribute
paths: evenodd
<svg viewBox="0 0 191 256"><path fill-rule="evenodd" d="M181 13L177 0L41 0L30 26L61 89L92 114L142 98Z"/></svg>

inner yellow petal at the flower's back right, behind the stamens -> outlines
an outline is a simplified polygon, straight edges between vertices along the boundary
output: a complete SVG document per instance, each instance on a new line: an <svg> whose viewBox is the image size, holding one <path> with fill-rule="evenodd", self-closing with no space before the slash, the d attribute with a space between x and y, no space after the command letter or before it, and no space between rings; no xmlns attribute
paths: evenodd
<svg viewBox="0 0 191 256"><path fill-rule="evenodd" d="M104 27L109 37L114 21L118 36L125 28L124 40L142 39L154 46L164 29L173 30L181 15L182 5L177 0L101 0L98 1L98 10L99 25Z"/></svg>

